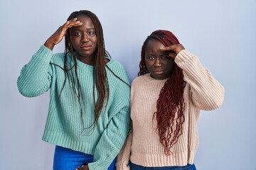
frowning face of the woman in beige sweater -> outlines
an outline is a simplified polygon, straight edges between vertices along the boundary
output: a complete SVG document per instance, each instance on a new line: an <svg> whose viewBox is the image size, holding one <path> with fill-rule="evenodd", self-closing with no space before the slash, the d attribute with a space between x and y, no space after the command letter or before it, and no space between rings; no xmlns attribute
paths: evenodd
<svg viewBox="0 0 256 170"><path fill-rule="evenodd" d="M146 68L154 79L166 79L171 75L174 58L160 50L164 45L158 40L149 40L145 50Z"/></svg>

